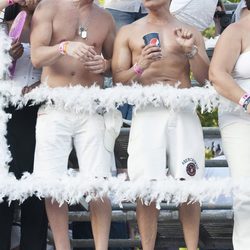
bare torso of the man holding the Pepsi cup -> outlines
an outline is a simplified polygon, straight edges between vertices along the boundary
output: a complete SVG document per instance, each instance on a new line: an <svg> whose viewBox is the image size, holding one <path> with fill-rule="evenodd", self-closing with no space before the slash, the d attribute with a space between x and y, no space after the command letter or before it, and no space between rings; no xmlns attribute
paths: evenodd
<svg viewBox="0 0 250 250"><path fill-rule="evenodd" d="M186 55L177 43L174 29L184 26L177 20L166 25L155 25L147 22L147 17L131 25L128 43L132 53L132 64L135 64L141 55L144 46L143 36L157 32L163 58L153 62L140 78L140 82L147 85L156 82L176 84L181 82L181 87L190 86L190 66Z"/></svg>

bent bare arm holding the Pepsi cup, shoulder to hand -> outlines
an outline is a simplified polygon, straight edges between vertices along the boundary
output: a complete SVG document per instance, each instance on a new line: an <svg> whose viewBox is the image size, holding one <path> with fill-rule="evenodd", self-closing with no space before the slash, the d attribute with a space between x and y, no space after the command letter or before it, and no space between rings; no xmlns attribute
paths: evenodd
<svg viewBox="0 0 250 250"><path fill-rule="evenodd" d="M115 83L130 84L139 81L143 71L154 61L162 57L161 48L155 45L147 45L142 48L141 55L136 63L132 65L132 52L129 47L130 25L120 29L114 46L112 60L112 72Z"/></svg>

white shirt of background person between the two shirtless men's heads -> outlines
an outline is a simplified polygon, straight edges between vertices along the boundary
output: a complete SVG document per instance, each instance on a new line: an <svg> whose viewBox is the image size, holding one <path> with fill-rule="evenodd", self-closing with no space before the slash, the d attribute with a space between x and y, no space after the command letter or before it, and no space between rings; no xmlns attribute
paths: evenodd
<svg viewBox="0 0 250 250"><path fill-rule="evenodd" d="M105 0L104 8L124 12L139 12L140 8L142 8L142 13L147 13L141 0Z"/></svg>

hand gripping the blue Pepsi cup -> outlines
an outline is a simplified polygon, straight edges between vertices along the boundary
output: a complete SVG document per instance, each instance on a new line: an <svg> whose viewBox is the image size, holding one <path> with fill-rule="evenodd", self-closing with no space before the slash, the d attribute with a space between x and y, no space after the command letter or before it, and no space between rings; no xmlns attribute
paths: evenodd
<svg viewBox="0 0 250 250"><path fill-rule="evenodd" d="M142 53L137 64L140 66L140 68L145 70L152 62L158 61L161 58L161 48L156 45L149 44L142 49Z"/></svg>

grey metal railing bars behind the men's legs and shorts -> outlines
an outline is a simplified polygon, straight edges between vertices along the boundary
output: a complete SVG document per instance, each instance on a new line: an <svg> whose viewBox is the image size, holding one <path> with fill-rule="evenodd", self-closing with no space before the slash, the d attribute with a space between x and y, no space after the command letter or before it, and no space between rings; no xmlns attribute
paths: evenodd
<svg viewBox="0 0 250 250"><path fill-rule="evenodd" d="M122 152L120 156L126 161L129 128L123 128L117 139ZM204 138L219 139L218 128L203 128ZM119 150L118 150L119 151ZM226 160L207 160L206 167L228 167ZM69 212L69 220L78 222L89 222L88 211ZM122 208L118 205L112 207L112 222L126 222L136 228L136 204L123 203ZM155 249L167 249L184 245L182 228L179 222L178 207L174 204L161 204L158 219L159 229ZM201 226L199 245L203 249L233 249L231 234L233 228L233 211L231 202L204 203L201 207ZM169 232L173 231L168 237ZM92 239L72 239L72 247L87 248L94 247ZM140 239L110 239L110 247L133 248L141 247Z"/></svg>

